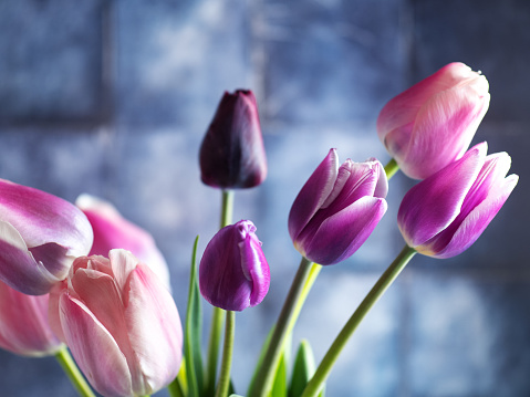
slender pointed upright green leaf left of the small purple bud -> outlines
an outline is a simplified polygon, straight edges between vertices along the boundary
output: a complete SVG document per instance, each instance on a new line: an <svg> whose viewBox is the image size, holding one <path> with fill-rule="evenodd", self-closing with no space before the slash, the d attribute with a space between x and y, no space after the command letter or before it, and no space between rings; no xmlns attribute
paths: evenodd
<svg viewBox="0 0 530 397"><path fill-rule="evenodd" d="M199 397L202 391L202 357L200 355L200 337L202 313L200 309L200 293L197 283L197 245L199 237L195 239L189 274L188 307L186 311L186 328L184 337L184 356L189 397Z"/></svg>

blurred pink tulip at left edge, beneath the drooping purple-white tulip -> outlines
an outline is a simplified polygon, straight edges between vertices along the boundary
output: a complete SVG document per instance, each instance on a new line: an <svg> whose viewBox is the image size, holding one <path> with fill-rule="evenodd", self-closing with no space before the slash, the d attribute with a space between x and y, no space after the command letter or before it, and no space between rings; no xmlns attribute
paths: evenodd
<svg viewBox="0 0 530 397"><path fill-rule="evenodd" d="M25 295L0 281L0 347L11 353L40 357L63 346L50 327L45 295Z"/></svg>

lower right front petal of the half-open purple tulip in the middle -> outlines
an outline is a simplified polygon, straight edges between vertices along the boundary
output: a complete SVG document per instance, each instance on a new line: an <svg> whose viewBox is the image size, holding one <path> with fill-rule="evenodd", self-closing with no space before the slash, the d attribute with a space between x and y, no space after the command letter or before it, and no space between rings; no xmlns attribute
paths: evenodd
<svg viewBox="0 0 530 397"><path fill-rule="evenodd" d="M302 242L304 257L319 264L334 264L350 258L370 237L386 212L382 198L363 197L328 218L311 241Z"/></svg>

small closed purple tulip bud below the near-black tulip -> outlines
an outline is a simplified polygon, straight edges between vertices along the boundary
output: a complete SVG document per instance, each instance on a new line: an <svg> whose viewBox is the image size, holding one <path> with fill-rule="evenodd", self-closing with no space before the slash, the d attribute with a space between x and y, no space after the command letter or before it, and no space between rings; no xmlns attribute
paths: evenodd
<svg viewBox="0 0 530 397"><path fill-rule="evenodd" d="M270 285L269 264L249 220L229 224L206 247L199 289L214 306L242 311L261 303Z"/></svg>

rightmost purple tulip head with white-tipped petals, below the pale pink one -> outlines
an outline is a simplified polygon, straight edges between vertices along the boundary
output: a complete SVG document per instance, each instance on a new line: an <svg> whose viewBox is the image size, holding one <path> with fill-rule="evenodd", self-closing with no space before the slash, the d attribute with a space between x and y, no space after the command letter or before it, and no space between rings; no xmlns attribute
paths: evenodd
<svg viewBox="0 0 530 397"><path fill-rule="evenodd" d="M450 258L467 250L482 233L517 185L506 153L486 156L487 144L469 149L414 186L397 215L407 244L424 255Z"/></svg>

